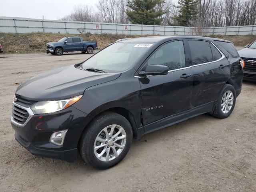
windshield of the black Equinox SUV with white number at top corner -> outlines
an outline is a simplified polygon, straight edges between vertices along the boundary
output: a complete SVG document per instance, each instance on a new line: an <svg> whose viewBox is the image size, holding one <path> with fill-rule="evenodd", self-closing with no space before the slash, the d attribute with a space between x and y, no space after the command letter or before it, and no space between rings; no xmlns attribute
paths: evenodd
<svg viewBox="0 0 256 192"><path fill-rule="evenodd" d="M134 65L153 43L120 42L114 43L98 52L81 66L110 72L122 72Z"/></svg>

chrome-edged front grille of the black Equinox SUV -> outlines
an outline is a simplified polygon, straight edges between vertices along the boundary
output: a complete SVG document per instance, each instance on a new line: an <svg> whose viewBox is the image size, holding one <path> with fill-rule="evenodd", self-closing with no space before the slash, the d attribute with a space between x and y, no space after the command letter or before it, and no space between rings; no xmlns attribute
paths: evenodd
<svg viewBox="0 0 256 192"><path fill-rule="evenodd" d="M26 108L15 102L12 103L12 123L18 126L25 126L33 115L34 114L30 108Z"/></svg>

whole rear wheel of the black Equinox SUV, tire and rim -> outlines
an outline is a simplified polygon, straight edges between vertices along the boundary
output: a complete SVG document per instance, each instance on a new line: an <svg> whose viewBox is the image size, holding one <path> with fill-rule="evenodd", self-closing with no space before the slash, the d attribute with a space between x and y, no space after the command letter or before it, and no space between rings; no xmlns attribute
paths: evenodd
<svg viewBox="0 0 256 192"><path fill-rule="evenodd" d="M212 115L216 118L227 118L236 104L236 91L230 84L225 84L214 106Z"/></svg>

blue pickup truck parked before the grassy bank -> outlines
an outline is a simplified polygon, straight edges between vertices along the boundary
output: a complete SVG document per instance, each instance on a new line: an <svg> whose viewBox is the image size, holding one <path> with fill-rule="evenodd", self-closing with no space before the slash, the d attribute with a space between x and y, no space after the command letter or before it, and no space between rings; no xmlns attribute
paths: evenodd
<svg viewBox="0 0 256 192"><path fill-rule="evenodd" d="M46 53L52 55L62 55L64 52L73 51L92 54L96 49L98 49L96 41L83 41L80 37L64 37L57 42L46 44Z"/></svg>

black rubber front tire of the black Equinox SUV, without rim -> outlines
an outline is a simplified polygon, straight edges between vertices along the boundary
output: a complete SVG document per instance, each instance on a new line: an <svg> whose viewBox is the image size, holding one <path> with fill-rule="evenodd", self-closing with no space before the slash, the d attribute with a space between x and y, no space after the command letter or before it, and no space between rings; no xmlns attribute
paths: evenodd
<svg viewBox="0 0 256 192"><path fill-rule="evenodd" d="M94 142L102 129L113 124L122 126L122 128L125 130L126 144L119 156L117 156L113 160L104 162L99 160L94 154ZM92 120L92 122L86 128L80 140L79 151L82 158L87 164L97 169L107 169L118 164L126 156L131 144L132 127L130 125L130 122L120 114L114 112L105 112Z"/></svg>

